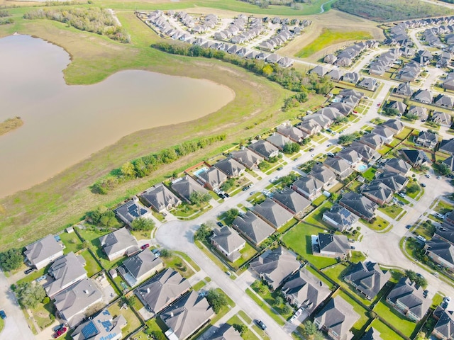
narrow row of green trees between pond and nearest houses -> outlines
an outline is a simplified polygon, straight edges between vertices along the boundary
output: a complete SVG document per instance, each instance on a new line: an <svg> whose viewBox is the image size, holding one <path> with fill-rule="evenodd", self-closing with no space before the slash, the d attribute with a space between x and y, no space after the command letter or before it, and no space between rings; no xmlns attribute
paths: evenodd
<svg viewBox="0 0 454 340"><path fill-rule="evenodd" d="M222 140L226 140L225 134L201 138L199 140L189 140L180 145L163 149L156 154L147 154L144 157L134 159L132 162L126 162L120 168L112 170L109 175L96 181L91 187L91 190L93 193L105 195L109 190L116 188L116 186L123 182L148 176L151 171L158 169L164 164L173 163L180 157L192 154L199 149L204 149Z"/></svg>

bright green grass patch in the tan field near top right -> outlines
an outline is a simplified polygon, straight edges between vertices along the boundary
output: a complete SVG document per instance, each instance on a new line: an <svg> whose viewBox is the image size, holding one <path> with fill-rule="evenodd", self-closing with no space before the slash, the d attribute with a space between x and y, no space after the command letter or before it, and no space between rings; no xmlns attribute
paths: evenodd
<svg viewBox="0 0 454 340"><path fill-rule="evenodd" d="M331 28L323 28L321 34L316 40L306 45L297 53L297 57L306 58L319 52L324 48L338 44L339 42L358 41L372 39L372 35L365 30L335 30Z"/></svg>

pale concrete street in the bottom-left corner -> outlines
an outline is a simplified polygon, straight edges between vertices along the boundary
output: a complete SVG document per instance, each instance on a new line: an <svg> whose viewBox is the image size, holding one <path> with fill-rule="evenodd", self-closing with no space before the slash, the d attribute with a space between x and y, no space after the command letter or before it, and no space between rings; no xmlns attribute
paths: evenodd
<svg viewBox="0 0 454 340"><path fill-rule="evenodd" d="M9 289L8 280L6 280L3 271L0 271L0 309L6 313L5 327L0 333L0 339L12 340L33 340L31 329L28 328L25 316L19 307L16 297Z"/></svg>

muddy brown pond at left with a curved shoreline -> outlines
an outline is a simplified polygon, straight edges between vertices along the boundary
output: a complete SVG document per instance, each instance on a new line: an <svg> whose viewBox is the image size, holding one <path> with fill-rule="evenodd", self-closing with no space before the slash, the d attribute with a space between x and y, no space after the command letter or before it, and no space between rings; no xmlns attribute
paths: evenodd
<svg viewBox="0 0 454 340"><path fill-rule="evenodd" d="M24 125L0 136L0 197L29 188L132 132L217 111L235 94L212 81L146 71L68 86L65 50L27 35L0 39L0 121Z"/></svg>

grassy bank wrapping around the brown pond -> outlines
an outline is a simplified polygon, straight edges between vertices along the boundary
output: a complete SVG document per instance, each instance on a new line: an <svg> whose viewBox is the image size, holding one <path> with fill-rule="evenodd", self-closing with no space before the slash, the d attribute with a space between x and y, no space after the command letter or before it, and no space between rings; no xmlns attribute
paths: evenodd
<svg viewBox="0 0 454 340"><path fill-rule="evenodd" d="M133 6L133 3L127 4ZM238 1L238 4L241 3ZM31 239L57 232L81 220L87 210L100 205L114 205L162 181L173 171L185 169L231 147L233 142L257 135L265 127L290 118L289 113L278 111L288 91L230 64L167 55L151 49L150 44L160 38L135 18L131 11L116 11L123 27L131 33L132 43L129 45L68 28L54 21L23 21L21 13L24 11L24 8L11 9L16 23L0 27L0 37L19 31L64 47L72 57L72 62L64 70L68 84L94 84L121 69L145 69L216 81L233 89L236 98L216 113L199 120L143 130L123 137L116 144L96 152L52 179L0 200L0 232L4 235L0 250L13 245L21 246ZM322 97L311 97L304 106L314 106L322 101ZM252 128L246 130L246 126ZM227 140L206 148L204 154L182 157L150 176L118 186L106 196L94 195L89 191L89 186L96 179L124 162L163 149L170 141L177 144L202 136L206 131L222 131L228 136Z"/></svg>

